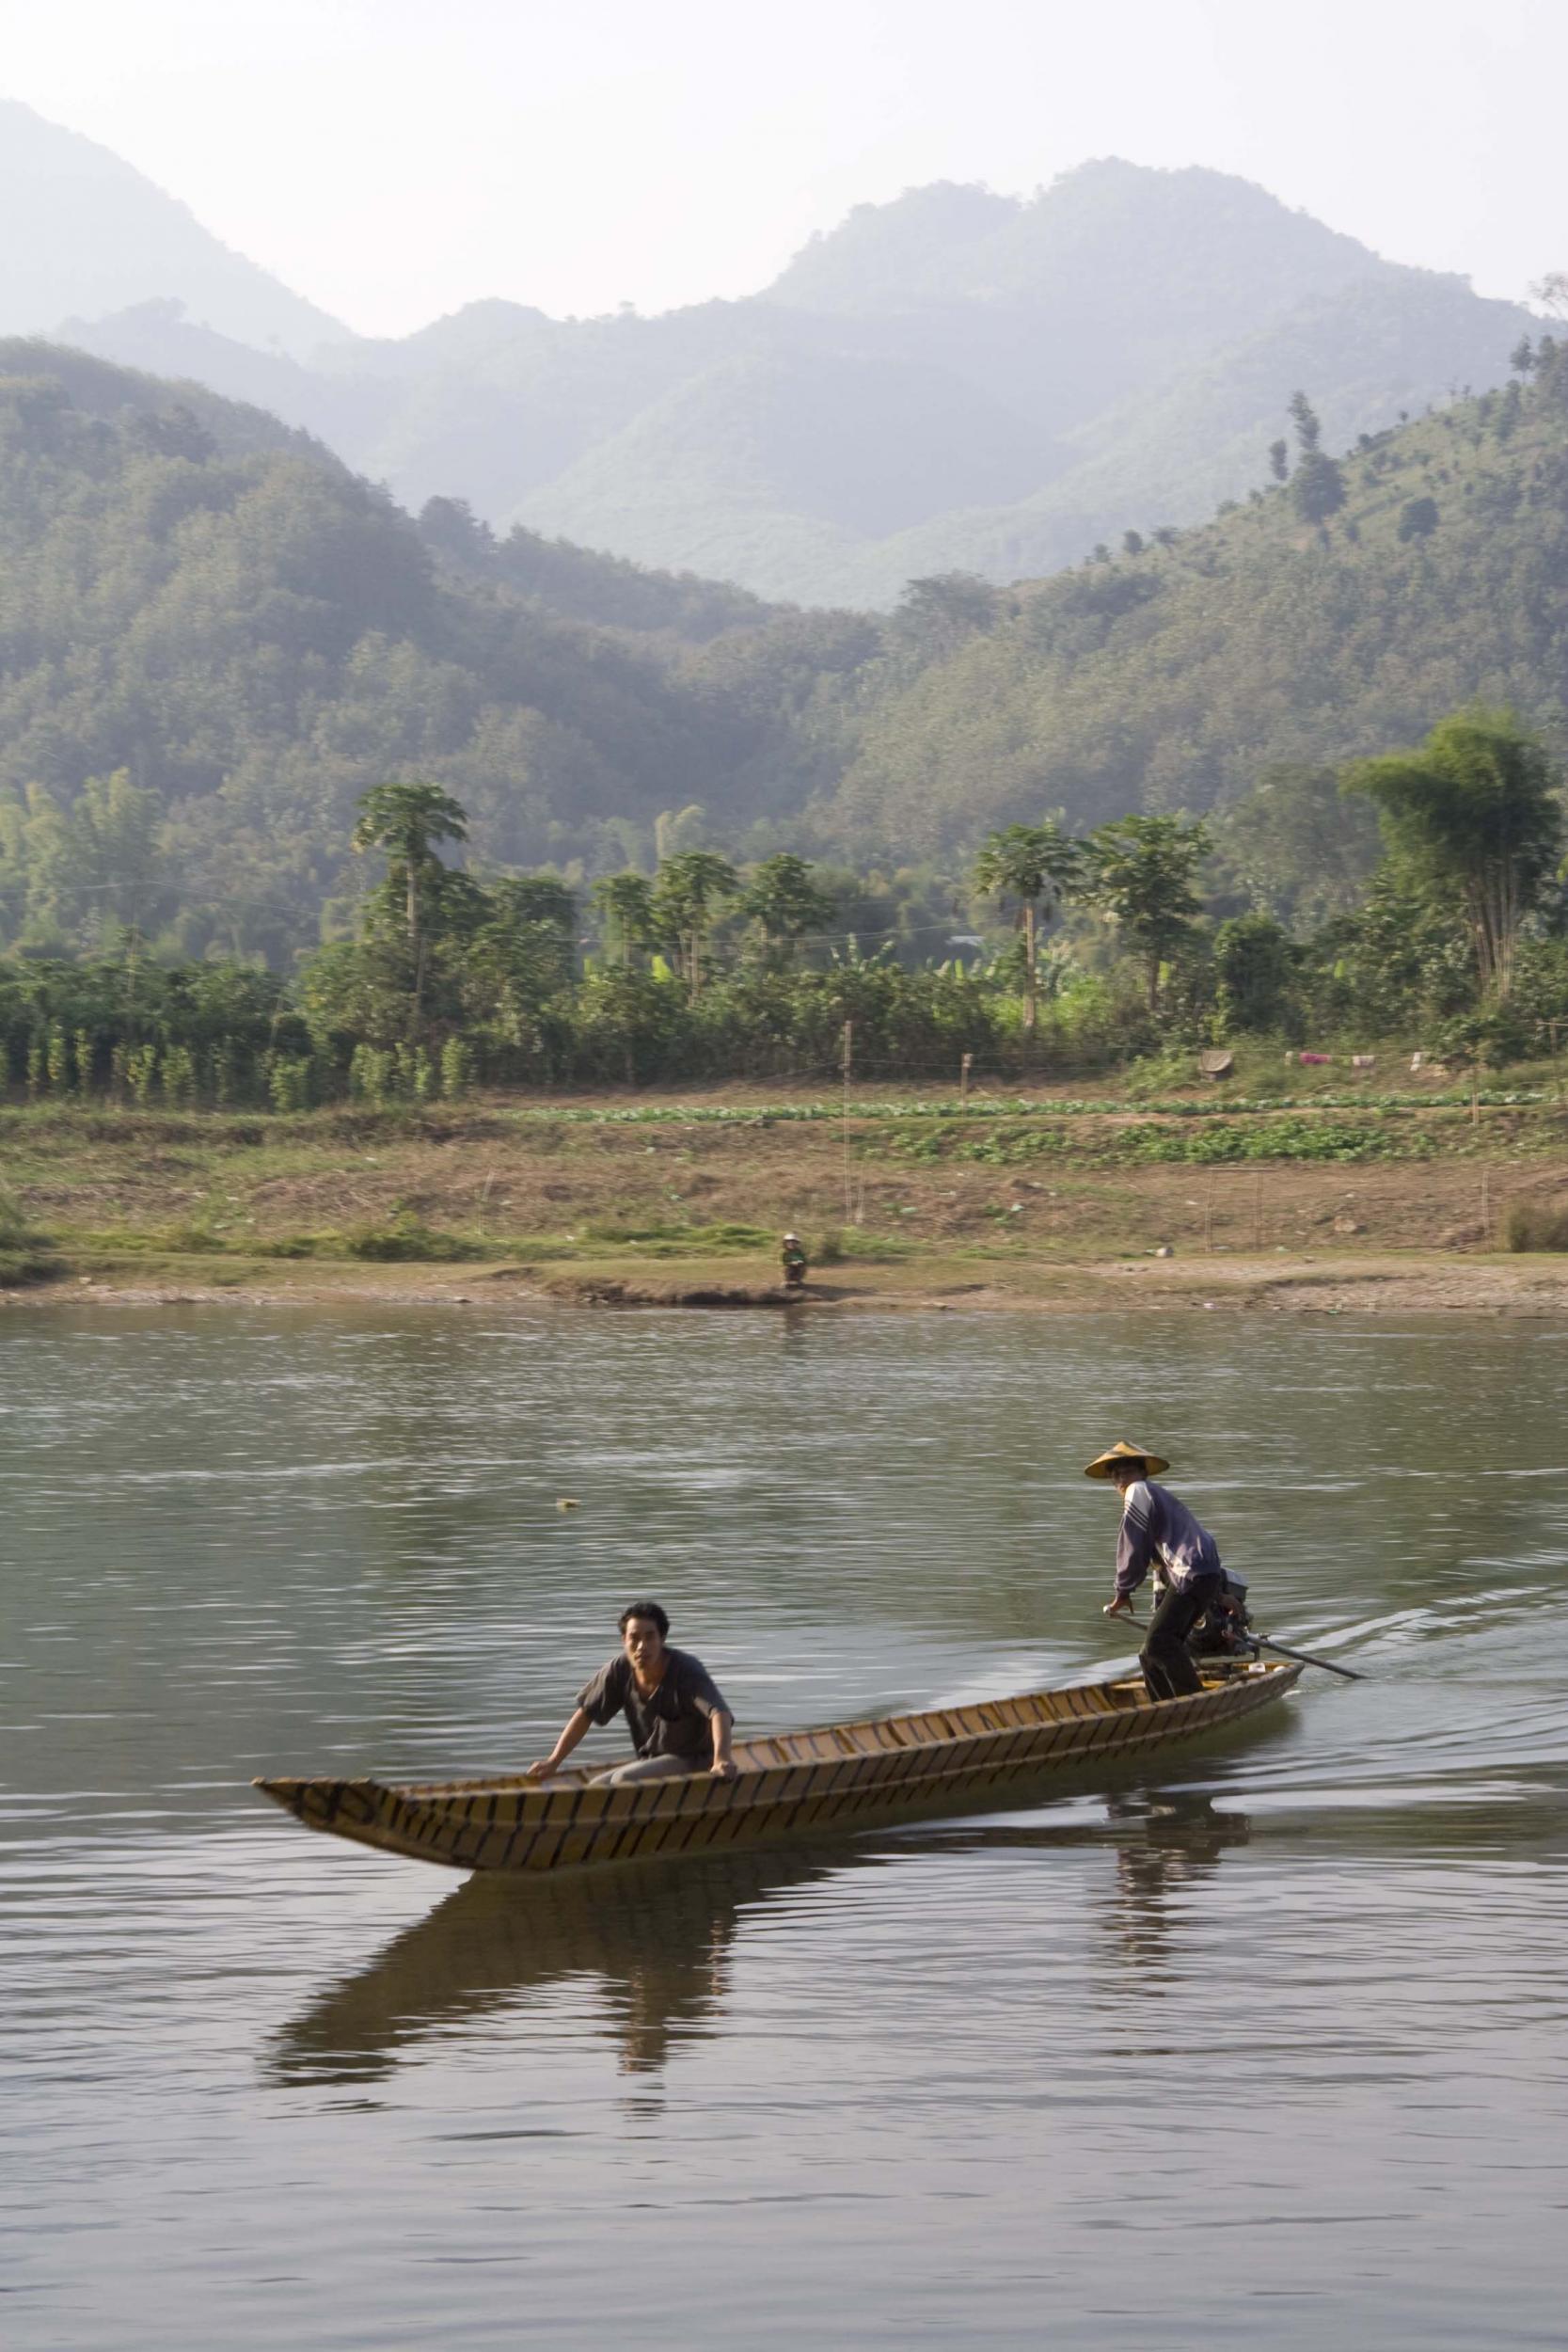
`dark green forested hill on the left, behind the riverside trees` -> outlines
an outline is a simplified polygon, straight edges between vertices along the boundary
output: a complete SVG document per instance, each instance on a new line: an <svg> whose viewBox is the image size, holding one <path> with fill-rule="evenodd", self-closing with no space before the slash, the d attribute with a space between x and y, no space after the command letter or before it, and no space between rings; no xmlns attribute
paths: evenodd
<svg viewBox="0 0 1568 2352"><path fill-rule="evenodd" d="M259 412L0 346L7 938L287 957L357 887L355 797L409 769L489 863L651 858L691 802L792 811L837 774L797 720L875 644L451 508L421 532Z"/></svg>

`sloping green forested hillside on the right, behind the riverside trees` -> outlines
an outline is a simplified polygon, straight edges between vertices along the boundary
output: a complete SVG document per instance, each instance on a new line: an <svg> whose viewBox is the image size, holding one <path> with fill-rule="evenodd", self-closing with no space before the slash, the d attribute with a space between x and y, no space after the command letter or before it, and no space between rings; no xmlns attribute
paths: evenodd
<svg viewBox="0 0 1568 2352"><path fill-rule="evenodd" d="M1568 353L1342 463L1314 426L1204 529L1013 593L931 583L936 659L884 673L825 835L931 856L1044 807L1211 809L1467 701L1568 748Z"/></svg>

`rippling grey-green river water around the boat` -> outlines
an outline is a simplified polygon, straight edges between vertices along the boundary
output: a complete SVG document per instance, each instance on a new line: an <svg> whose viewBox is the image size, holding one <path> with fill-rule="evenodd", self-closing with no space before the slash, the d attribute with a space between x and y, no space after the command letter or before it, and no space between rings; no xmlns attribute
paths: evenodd
<svg viewBox="0 0 1568 2352"><path fill-rule="evenodd" d="M247 1785L515 1769L642 1595L745 1731L1084 1677L1117 1435L1371 1679L559 1886ZM9 2352L1566 2340L1568 1331L16 1310L0 1508Z"/></svg>

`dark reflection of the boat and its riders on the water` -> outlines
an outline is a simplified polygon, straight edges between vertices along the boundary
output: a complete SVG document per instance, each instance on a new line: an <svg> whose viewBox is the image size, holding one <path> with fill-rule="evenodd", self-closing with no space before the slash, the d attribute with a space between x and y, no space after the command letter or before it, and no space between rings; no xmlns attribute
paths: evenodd
<svg viewBox="0 0 1568 2352"><path fill-rule="evenodd" d="M1244 1844L1244 1813L1201 1795L1121 1795L1091 1820L957 1823L858 1849L795 1846L686 1863L505 1879L477 1872L334 1985L273 2046L282 2084L364 2084L397 2058L531 1992L599 1978L623 2074L658 2074L682 2042L715 2034L743 1919L802 1886L943 1853L1112 1849L1114 1938L1147 1964L1168 1940L1168 1898Z"/></svg>

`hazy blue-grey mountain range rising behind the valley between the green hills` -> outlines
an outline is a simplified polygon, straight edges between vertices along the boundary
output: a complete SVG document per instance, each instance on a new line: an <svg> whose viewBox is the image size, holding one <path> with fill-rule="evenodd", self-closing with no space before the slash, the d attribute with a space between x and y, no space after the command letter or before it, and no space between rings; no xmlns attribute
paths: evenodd
<svg viewBox="0 0 1568 2352"><path fill-rule="evenodd" d="M860 207L762 294L663 318L482 301L301 362L188 310L141 301L71 339L261 402L404 506L860 607L1199 520L1260 480L1295 386L1345 445L1497 383L1533 325L1246 181L1126 162L1027 202Z"/></svg>

